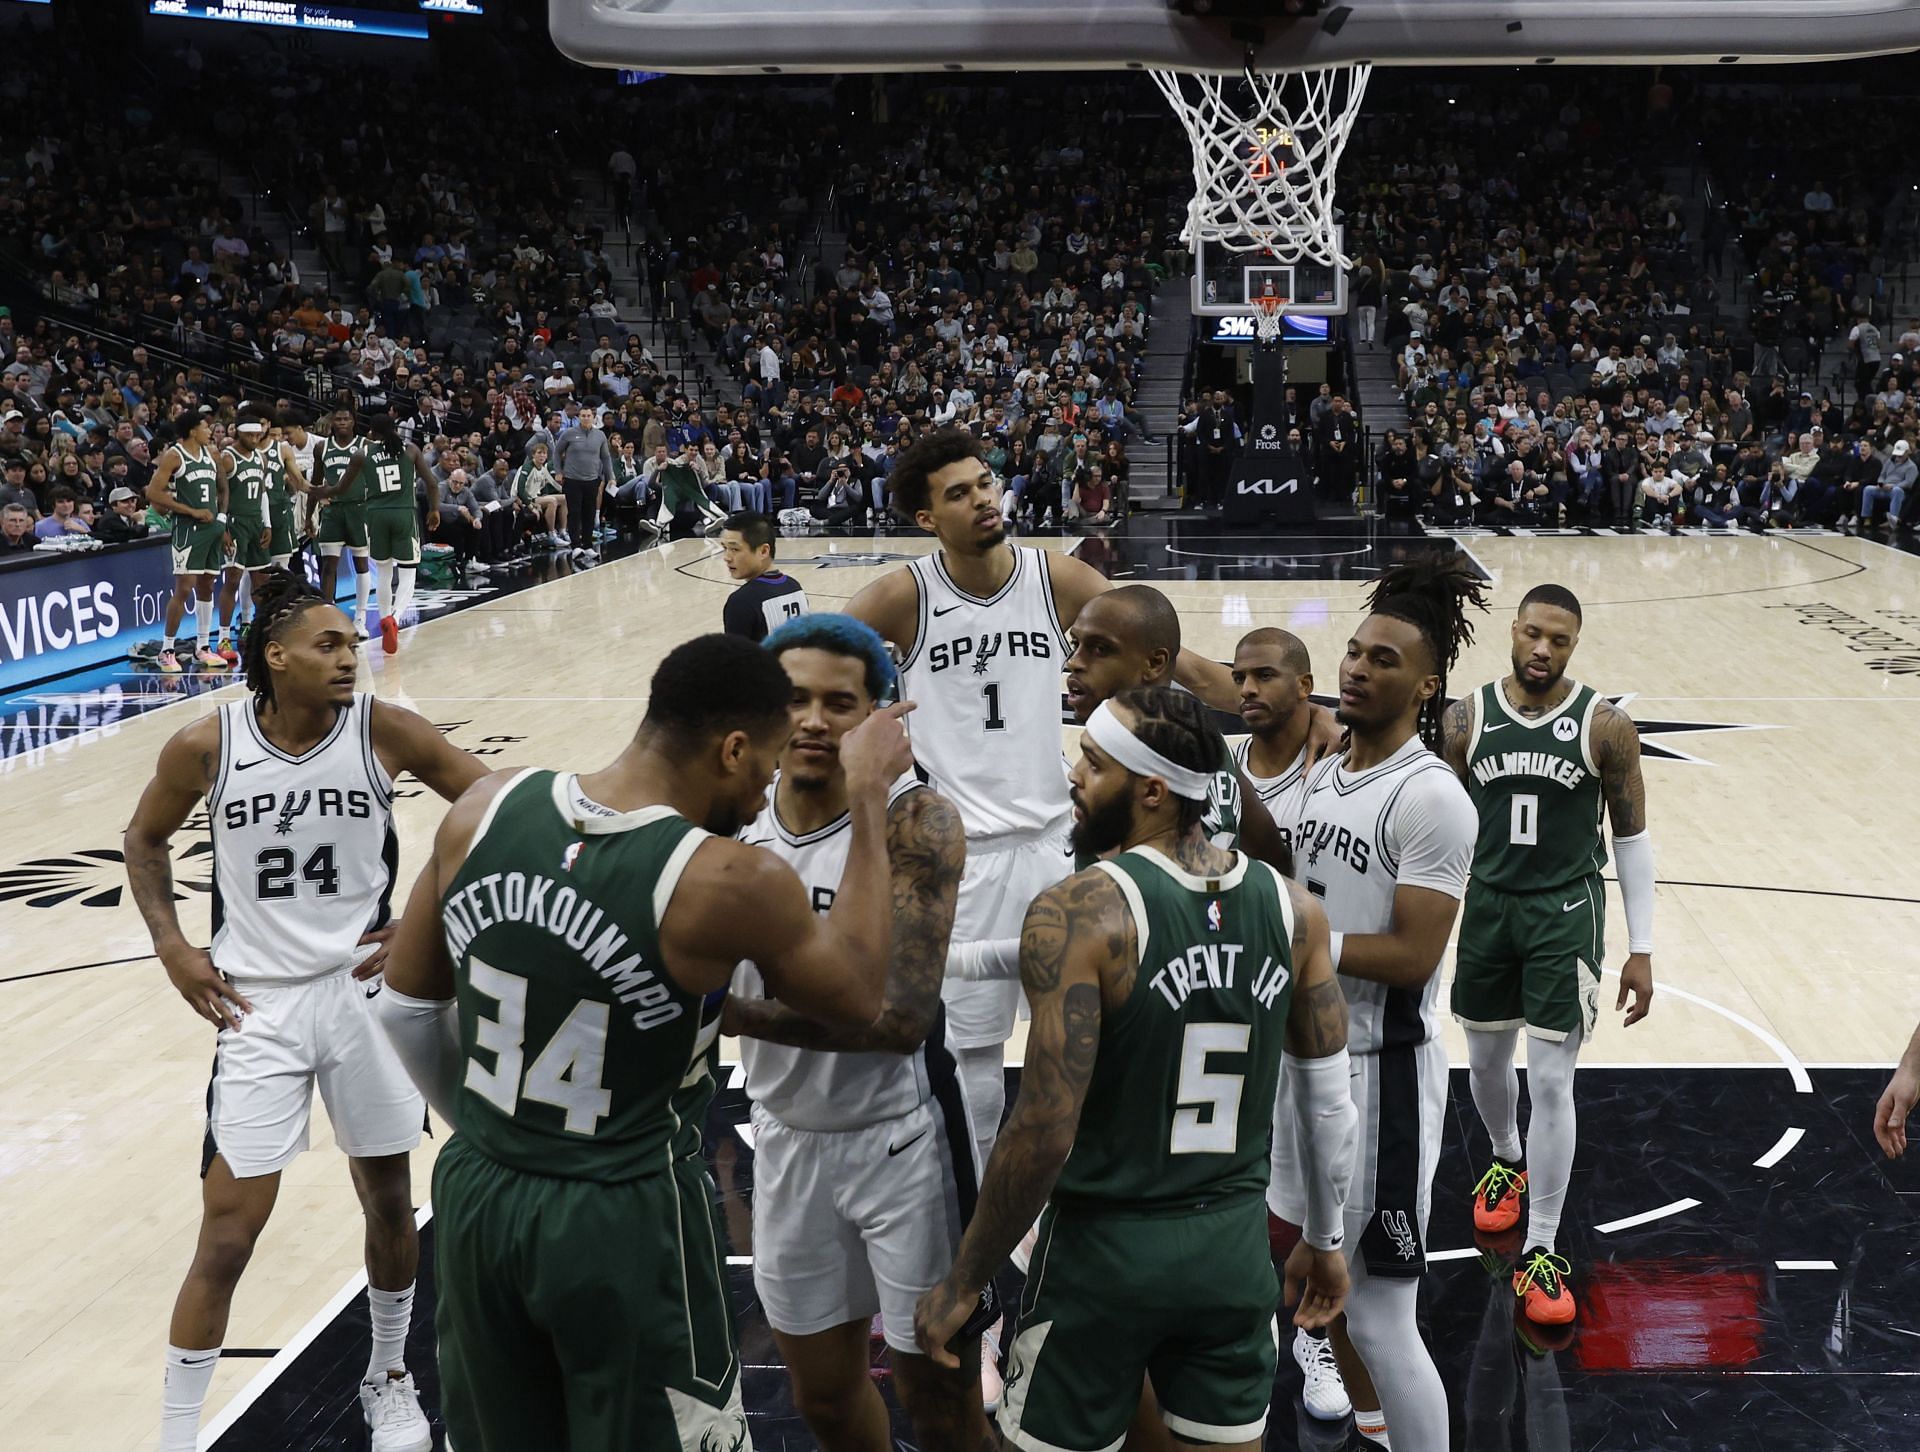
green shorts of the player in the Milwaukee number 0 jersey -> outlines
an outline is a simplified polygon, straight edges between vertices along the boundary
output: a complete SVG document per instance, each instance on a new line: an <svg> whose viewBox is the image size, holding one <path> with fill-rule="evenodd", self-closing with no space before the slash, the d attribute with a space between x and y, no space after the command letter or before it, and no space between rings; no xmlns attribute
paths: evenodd
<svg viewBox="0 0 1920 1452"><path fill-rule="evenodd" d="M1599 1018L1607 885L1596 872L1549 893L1467 885L1453 958L1453 1018L1559 1043Z"/></svg>

